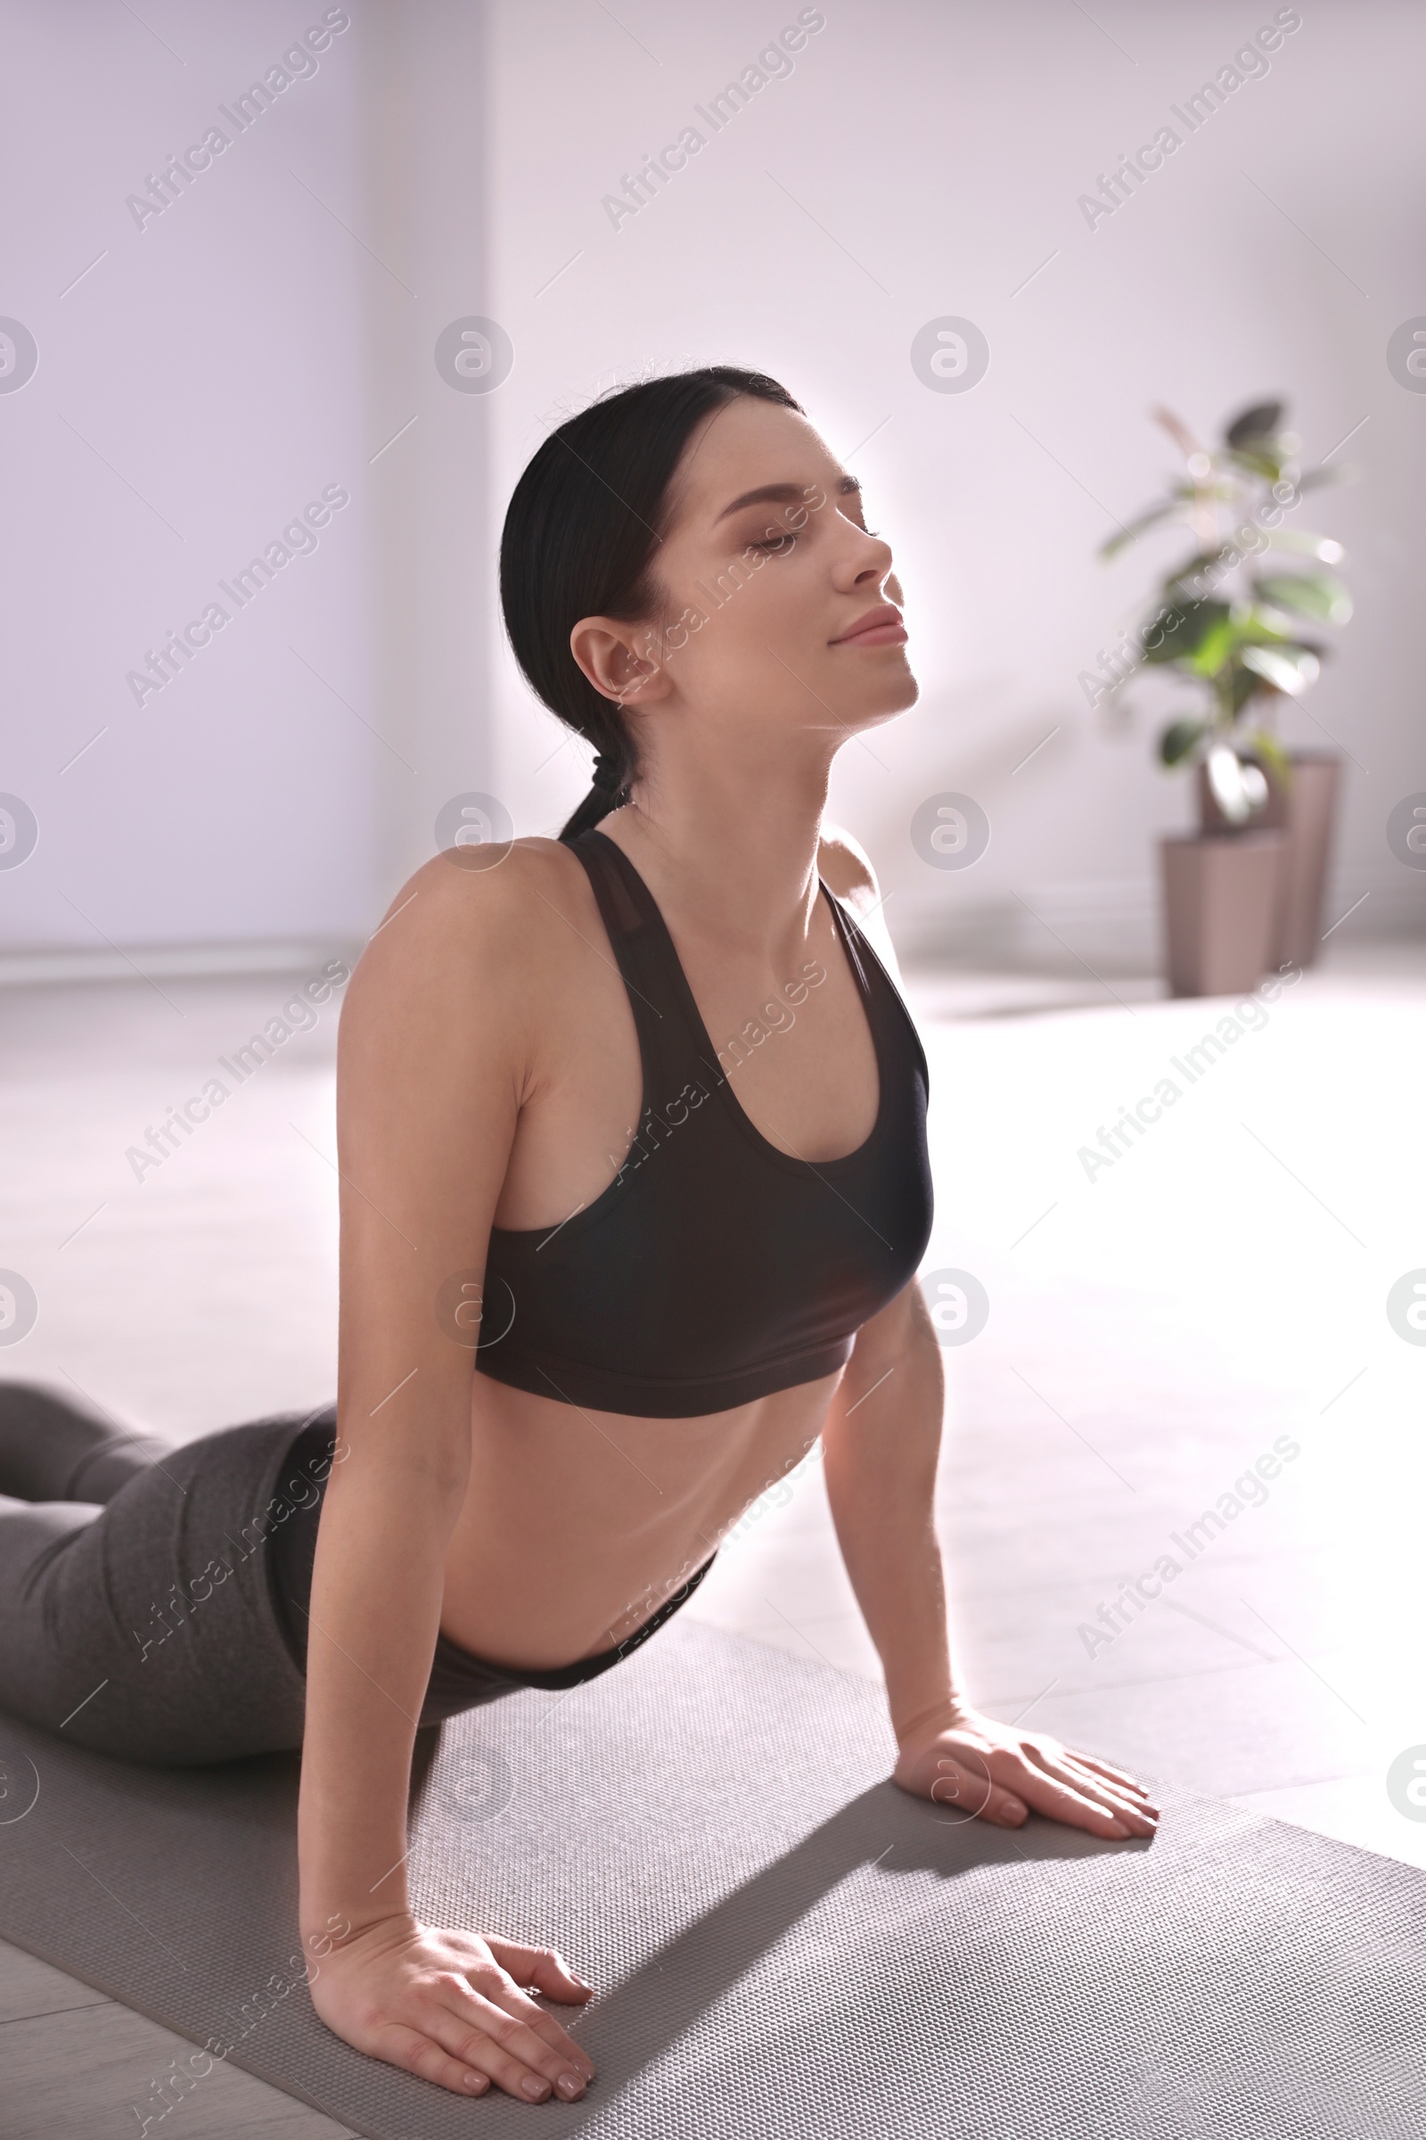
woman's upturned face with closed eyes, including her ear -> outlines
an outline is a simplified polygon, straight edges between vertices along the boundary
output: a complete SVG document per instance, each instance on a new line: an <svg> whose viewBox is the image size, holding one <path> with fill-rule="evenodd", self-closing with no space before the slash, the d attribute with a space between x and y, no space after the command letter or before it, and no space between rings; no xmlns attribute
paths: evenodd
<svg viewBox="0 0 1426 2140"><path fill-rule="evenodd" d="M815 730L836 749L915 704L892 550L866 526L855 477L791 409L740 396L699 426L652 567L658 616L584 618L571 633L641 740L656 747L663 717L682 710L763 738Z"/></svg>

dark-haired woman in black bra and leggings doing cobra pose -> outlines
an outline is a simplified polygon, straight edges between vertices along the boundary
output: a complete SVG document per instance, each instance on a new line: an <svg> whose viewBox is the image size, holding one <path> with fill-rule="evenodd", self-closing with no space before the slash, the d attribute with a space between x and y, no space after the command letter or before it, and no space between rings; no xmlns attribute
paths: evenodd
<svg viewBox="0 0 1426 2140"><path fill-rule="evenodd" d="M543 2101L594 2067L528 1992L588 1986L413 1917L415 1731L616 1665L819 1436L896 1783L1157 1815L951 1673L926 1057L823 826L836 751L917 696L855 479L772 379L654 379L534 454L500 588L594 788L558 841L436 854L351 980L338 1402L169 1449L2 1391L0 1708L135 1761L301 1746L316 2012Z"/></svg>

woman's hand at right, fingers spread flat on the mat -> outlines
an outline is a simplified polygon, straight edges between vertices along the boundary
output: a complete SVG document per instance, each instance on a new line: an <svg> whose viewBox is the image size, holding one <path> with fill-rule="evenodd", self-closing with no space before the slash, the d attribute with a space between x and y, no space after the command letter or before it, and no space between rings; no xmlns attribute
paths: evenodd
<svg viewBox="0 0 1426 2140"><path fill-rule="evenodd" d="M1159 1808L1122 1768L968 1708L941 1729L913 1733L892 1780L996 1828L1020 1828L1028 1810L1092 1836L1152 1836L1159 1828Z"/></svg>

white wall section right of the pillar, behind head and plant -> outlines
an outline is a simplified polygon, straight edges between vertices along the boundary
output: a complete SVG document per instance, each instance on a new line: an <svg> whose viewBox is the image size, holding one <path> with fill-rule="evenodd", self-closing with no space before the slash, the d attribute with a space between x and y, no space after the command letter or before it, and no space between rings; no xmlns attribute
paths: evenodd
<svg viewBox="0 0 1426 2140"><path fill-rule="evenodd" d="M1426 396L1390 379L1383 351L1426 312L1426 17L1308 4L1268 75L1197 135L1178 126L1182 148L1090 229L1080 193L1172 124L1167 107L1272 6L1103 0L1090 19L1063 0L827 0L791 77L716 135L695 105L797 6L616 13L492 9L492 310L517 351L498 396L492 541L552 404L688 360L774 372L855 456L906 586L921 704L872 738L874 755L851 743L834 773L834 813L894 888L898 939L964 942L973 924L1001 950L1054 950L1026 899L1073 944L1133 954L1152 946L1152 837L1189 822L1189 790L1150 764L1157 719L1114 736L1075 678L1176 550L1161 539L1105 569L1095 548L1174 467L1152 402L1214 432L1281 389L1308 456L1362 426L1338 456L1360 486L1300 514L1347 541L1358 616L1289 734L1332 732L1362 762L1347 768L1332 890L1338 910L1370 892L1349 929L1422 927L1426 877L1392 860L1383 822L1426 788ZM601 197L686 124L708 146L614 227ZM911 340L939 315L990 340L968 394L932 394L911 370ZM515 817L552 828L584 760L567 749L541 766L556 734L509 653L494 706ZM992 820L964 875L928 869L909 843L939 790L971 792Z"/></svg>

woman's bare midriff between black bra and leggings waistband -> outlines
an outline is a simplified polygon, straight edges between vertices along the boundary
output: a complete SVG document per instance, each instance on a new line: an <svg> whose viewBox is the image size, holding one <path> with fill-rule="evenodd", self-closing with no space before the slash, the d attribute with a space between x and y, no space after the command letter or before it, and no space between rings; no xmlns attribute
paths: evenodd
<svg viewBox="0 0 1426 2140"><path fill-rule="evenodd" d="M552 1669L633 1635L821 1434L836 1374L729 1412L592 1412L475 1376L440 1633Z"/></svg>

